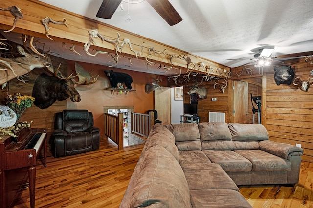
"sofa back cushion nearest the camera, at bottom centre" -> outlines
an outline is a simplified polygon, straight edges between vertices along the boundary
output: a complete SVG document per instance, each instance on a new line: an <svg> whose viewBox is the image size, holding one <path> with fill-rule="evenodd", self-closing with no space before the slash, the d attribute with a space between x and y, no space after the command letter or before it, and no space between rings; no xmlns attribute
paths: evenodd
<svg viewBox="0 0 313 208"><path fill-rule="evenodd" d="M146 151L129 207L191 207L185 175L172 154L162 146Z"/></svg>

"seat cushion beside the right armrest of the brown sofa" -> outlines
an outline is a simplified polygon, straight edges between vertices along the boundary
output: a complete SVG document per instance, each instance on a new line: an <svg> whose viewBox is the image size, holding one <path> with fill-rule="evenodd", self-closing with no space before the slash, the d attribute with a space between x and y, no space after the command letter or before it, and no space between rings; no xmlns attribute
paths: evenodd
<svg viewBox="0 0 313 208"><path fill-rule="evenodd" d="M262 150L235 150L252 163L252 171L290 171L291 162Z"/></svg>

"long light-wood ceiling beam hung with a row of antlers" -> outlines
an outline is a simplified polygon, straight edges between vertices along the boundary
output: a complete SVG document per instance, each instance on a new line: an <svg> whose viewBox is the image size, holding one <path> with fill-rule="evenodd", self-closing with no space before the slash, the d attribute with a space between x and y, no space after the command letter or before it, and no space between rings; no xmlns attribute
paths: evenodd
<svg viewBox="0 0 313 208"><path fill-rule="evenodd" d="M39 2L37 0L10 0L1 1L1 8L8 8L15 5L21 9L23 14L22 19L18 19L16 27L13 30L17 33L22 33L30 36L35 36L38 38L47 38L45 36L45 27L41 24L41 19L45 17L52 18L56 21L62 21L64 18L67 20L66 23L68 28L64 25L53 24L50 25L49 37L55 41L68 42L71 44L84 46L88 42L88 31L92 29L98 29L98 31L107 39L114 40L120 34L120 39L128 38L131 40L132 45L136 47L137 51L140 51L141 46L144 48L141 55L138 56L140 59L145 59L149 55L148 49L153 47L154 50L162 52L166 49L167 54L179 54L186 55L192 61L192 63L204 63L205 65L212 66L213 68L221 68L230 71L229 67L215 63L208 59L198 57L188 52L179 50L177 48L171 47L169 45L162 44L155 40L145 38L128 31L113 27L111 25L86 18L81 15L71 13L69 11ZM44 14L44 15L41 15ZM8 30L12 27L14 17L8 11L0 10L0 29ZM110 53L115 52L115 45L106 41L101 41L100 38L94 38L94 44L90 46L90 49L107 51ZM129 47L123 48L123 54L126 56L135 57L134 52L131 51ZM166 56L151 56L149 60L155 63L170 64L168 57ZM186 69L186 60L180 58L172 59L172 64L176 65L182 69ZM195 71L205 74L205 69L199 68ZM216 70L215 70L216 71ZM220 73L211 72L212 75L220 76Z"/></svg>

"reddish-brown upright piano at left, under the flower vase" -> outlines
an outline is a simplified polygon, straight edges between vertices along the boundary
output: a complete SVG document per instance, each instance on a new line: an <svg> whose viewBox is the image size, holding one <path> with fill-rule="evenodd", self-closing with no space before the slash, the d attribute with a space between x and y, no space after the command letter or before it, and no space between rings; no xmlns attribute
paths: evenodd
<svg viewBox="0 0 313 208"><path fill-rule="evenodd" d="M30 207L35 207L36 161L44 147L46 166L46 132L44 129L23 128L17 137L0 140L0 208L11 208L22 188L29 181Z"/></svg>

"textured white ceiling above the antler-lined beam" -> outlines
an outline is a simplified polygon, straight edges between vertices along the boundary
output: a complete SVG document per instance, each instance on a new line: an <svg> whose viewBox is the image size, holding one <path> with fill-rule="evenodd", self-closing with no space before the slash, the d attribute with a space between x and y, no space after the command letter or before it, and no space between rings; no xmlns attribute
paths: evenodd
<svg viewBox="0 0 313 208"><path fill-rule="evenodd" d="M169 26L147 3L117 8L112 19L96 13L102 0L39 0L151 38L229 67L244 65L258 48L272 56L313 50L313 0L169 0L182 21Z"/></svg>

